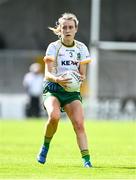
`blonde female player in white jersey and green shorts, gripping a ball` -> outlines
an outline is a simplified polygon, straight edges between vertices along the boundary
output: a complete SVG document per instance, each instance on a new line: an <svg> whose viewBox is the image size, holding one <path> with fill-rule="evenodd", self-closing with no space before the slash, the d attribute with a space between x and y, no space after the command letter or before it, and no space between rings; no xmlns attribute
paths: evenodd
<svg viewBox="0 0 136 180"><path fill-rule="evenodd" d="M91 61L90 55L87 47L74 39L78 30L78 20L74 14L64 13L58 19L56 27L49 29L59 37L59 40L49 44L44 57L43 103L47 110L48 122L45 128L44 142L37 160L42 164L46 162L50 142L57 130L63 108L72 122L84 167L92 167L84 127L80 90L67 92L65 87L71 79L60 75L65 71L73 70L80 73L81 81L83 81L86 77L86 66Z"/></svg>

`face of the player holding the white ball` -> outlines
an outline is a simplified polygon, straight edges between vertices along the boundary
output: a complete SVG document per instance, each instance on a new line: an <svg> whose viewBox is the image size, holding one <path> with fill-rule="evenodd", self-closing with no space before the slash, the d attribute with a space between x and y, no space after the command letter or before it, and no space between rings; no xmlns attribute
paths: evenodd
<svg viewBox="0 0 136 180"><path fill-rule="evenodd" d="M73 20L63 20L60 27L62 42L73 43L77 27Z"/></svg>

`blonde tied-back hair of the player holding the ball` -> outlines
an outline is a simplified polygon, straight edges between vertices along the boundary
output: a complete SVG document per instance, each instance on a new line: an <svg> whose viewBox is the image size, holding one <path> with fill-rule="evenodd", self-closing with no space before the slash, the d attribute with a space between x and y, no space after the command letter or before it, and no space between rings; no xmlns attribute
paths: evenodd
<svg viewBox="0 0 136 180"><path fill-rule="evenodd" d="M75 27L78 27L79 21L78 21L77 17L72 13L64 13L58 19L58 21L56 22L56 26L54 28L49 27L49 29L51 31L53 31L53 33L56 34L57 36L60 36L60 25L63 20L73 20L75 22Z"/></svg>

